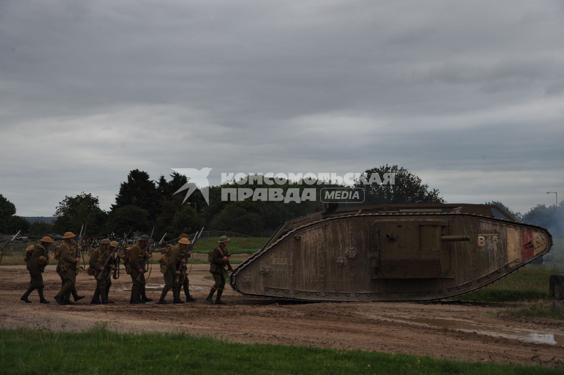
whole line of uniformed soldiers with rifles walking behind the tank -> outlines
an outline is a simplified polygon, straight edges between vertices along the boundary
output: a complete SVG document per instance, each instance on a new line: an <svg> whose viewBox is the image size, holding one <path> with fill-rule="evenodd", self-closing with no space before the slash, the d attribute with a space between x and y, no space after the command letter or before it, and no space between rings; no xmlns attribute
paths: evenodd
<svg viewBox="0 0 564 375"><path fill-rule="evenodd" d="M53 259L57 261L56 271L61 277L61 289L55 295L55 301L59 305L74 305L74 302L84 298L84 295L78 295L76 291L76 276L81 270L80 266L80 250L81 246L74 246L75 235L72 232L67 232L63 235L63 242L60 246L56 247ZM178 244L168 245L166 248L161 249L163 255L159 262L161 264L161 272L163 273L165 286L162 290L161 297L158 301L160 305L168 305L169 302L165 300L166 294L169 290L173 290L173 303L185 303L196 301L190 295L190 280L186 273L180 272L180 269L186 270L187 258L190 258L192 251L190 245L190 236L183 233L179 236ZM226 283L226 278L229 276L228 271L233 271L229 259L227 257L227 244L229 239L222 236L219 239L219 245L213 250L211 254L210 272L214 277L215 284L211 287L210 293L206 298L209 303L216 305L224 305L225 302L221 301L221 296ZM39 240L38 244L30 245L26 249L25 262L27 262L27 269L31 277L28 290L21 296L21 301L30 303L28 297L33 290L37 289L39 294L39 303L49 303L43 295L43 275L45 267L49 264L49 248L53 240L49 236L43 237ZM87 270L90 276L96 279L96 290L92 296L90 303L108 304L115 303L109 299L109 290L112 286L110 278L111 271L114 271L114 279L117 279L115 271L119 267L119 262L124 259L126 272L131 276L131 298L130 303L139 304L153 301L152 298L147 297L145 289L145 269L144 266L149 258L152 257L152 252L149 252L149 244L151 239L147 235L142 235L139 241L129 248L124 244L124 251L118 252L120 244L117 241L110 241L104 239L100 241L100 246L90 252L89 268ZM102 276L100 276L102 273ZM180 299L180 288L184 289L186 301ZM212 297L217 291L217 298L215 302ZM70 295L73 296L74 302L70 301ZM100 301L100 298L102 301Z"/></svg>

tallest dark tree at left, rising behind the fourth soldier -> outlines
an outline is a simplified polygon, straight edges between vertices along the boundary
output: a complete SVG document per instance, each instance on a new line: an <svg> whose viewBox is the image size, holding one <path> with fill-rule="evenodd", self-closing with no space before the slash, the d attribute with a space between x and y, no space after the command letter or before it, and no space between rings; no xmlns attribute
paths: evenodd
<svg viewBox="0 0 564 375"><path fill-rule="evenodd" d="M164 189L165 186L162 188ZM127 175L127 181L121 183L112 211L125 206L138 206L149 212L151 221L156 219L160 210L160 195L155 182L149 179L147 172L132 170Z"/></svg>

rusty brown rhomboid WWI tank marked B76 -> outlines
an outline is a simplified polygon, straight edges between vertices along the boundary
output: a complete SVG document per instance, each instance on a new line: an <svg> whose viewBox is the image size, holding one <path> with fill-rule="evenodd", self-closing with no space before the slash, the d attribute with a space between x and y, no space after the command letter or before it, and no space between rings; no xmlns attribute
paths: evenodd
<svg viewBox="0 0 564 375"><path fill-rule="evenodd" d="M550 246L546 229L494 205L325 204L281 226L230 283L256 297L431 301L491 284Z"/></svg>

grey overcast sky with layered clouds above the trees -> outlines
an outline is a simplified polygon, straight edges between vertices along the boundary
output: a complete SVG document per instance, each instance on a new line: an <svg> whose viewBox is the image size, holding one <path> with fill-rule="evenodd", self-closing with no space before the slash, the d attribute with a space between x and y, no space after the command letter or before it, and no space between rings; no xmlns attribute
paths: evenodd
<svg viewBox="0 0 564 375"><path fill-rule="evenodd" d="M0 0L0 130L23 216L136 168L383 164L525 213L564 198L564 3Z"/></svg>

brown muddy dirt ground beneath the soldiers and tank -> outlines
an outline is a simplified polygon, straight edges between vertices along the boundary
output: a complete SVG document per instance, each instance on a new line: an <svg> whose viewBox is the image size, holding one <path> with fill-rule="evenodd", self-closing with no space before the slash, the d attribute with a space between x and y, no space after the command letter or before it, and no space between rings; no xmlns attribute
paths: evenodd
<svg viewBox="0 0 564 375"><path fill-rule="evenodd" d="M27 289L25 266L0 266L0 327L83 330L104 322L116 331L187 331L235 342L360 348L433 358L494 363L542 364L564 368L564 325L548 319L521 319L498 315L521 305L434 303L290 303L244 297L226 287L224 306L209 305L205 297L213 280L209 266L193 266L192 295L198 300L183 305L130 305L131 279L122 272L110 292L114 305L90 305L94 277L77 276L76 306L60 306L54 295L60 288L55 266L44 273L49 305L19 300ZM162 285L153 267L148 286ZM151 291L157 301L160 292ZM171 292L169 292L171 295ZM72 311L72 314L69 312ZM505 314L506 315L506 314ZM227 318L226 318L227 316Z"/></svg>

